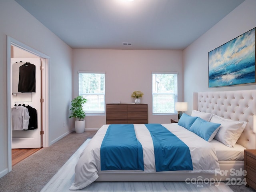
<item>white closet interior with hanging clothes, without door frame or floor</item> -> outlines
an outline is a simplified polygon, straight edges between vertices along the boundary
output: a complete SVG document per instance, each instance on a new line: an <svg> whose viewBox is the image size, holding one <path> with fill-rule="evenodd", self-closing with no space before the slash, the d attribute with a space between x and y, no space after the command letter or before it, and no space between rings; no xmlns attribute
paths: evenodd
<svg viewBox="0 0 256 192"><path fill-rule="evenodd" d="M41 131L41 105L40 105L40 85L42 76L40 75L40 58L32 58L28 52L21 50L15 46L12 46L13 55L11 57L11 76L12 76L12 149L24 149L24 148L41 148L42 136ZM17 57L18 55L18 57ZM31 55L31 56L30 56ZM20 56L24 56L20 58ZM30 56L30 57L27 57ZM35 74L24 74L26 78L30 78L32 75L35 78L34 84L22 83L24 88L27 86L35 86L33 92L20 92L18 87L23 88L19 84L20 68L29 72L30 66ZM34 68L33 68L34 67ZM30 90L28 90L30 91ZM30 110L32 110L30 114ZM23 114L22 121L16 121L20 119L20 114ZM30 123L31 122L31 123ZM22 125L23 124L23 125ZM26 124L26 125L25 125ZM26 126L26 127L25 127Z"/></svg>

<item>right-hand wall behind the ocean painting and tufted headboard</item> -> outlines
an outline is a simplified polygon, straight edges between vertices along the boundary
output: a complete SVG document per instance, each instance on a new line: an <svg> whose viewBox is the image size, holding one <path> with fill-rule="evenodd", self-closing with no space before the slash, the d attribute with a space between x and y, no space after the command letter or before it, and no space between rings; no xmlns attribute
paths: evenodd
<svg viewBox="0 0 256 192"><path fill-rule="evenodd" d="M208 52L256 27L256 1L246 0L184 50L184 101L192 111L193 92L248 90L256 85L208 88Z"/></svg>

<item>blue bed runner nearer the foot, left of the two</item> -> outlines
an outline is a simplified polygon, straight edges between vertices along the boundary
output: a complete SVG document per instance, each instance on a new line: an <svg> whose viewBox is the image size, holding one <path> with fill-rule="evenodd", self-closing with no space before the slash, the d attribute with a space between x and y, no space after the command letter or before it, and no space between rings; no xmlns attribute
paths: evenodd
<svg viewBox="0 0 256 192"><path fill-rule="evenodd" d="M101 170L144 170L133 124L110 124L100 147Z"/></svg>

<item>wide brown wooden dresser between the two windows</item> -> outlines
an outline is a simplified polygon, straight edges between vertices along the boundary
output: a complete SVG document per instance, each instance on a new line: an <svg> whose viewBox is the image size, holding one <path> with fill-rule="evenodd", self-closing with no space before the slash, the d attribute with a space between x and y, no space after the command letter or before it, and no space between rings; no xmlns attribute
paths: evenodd
<svg viewBox="0 0 256 192"><path fill-rule="evenodd" d="M106 104L106 124L147 124L148 104Z"/></svg>

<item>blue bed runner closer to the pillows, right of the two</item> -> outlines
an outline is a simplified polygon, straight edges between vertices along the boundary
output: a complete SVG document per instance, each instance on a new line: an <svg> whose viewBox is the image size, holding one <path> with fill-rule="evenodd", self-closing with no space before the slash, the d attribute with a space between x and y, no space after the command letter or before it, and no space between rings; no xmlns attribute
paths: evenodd
<svg viewBox="0 0 256 192"><path fill-rule="evenodd" d="M161 124L145 124L153 144L156 171L193 170L190 150L176 135Z"/></svg>

